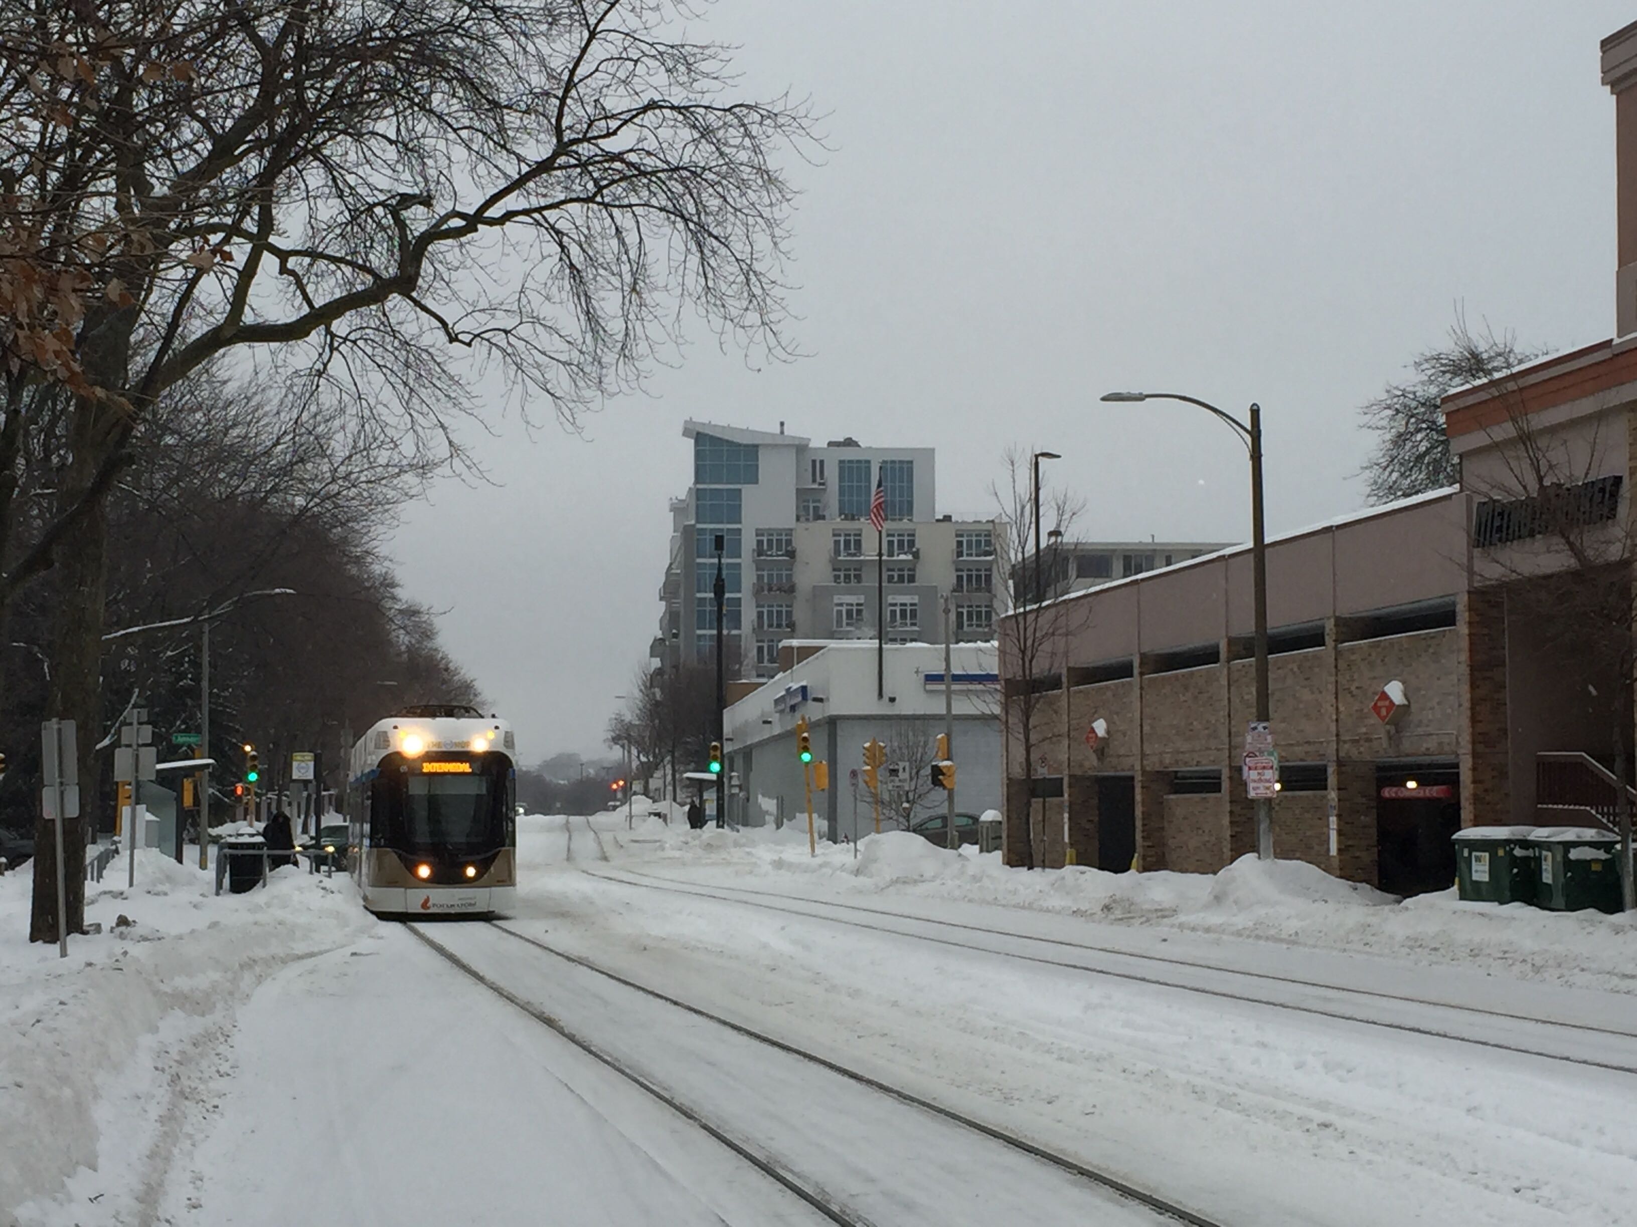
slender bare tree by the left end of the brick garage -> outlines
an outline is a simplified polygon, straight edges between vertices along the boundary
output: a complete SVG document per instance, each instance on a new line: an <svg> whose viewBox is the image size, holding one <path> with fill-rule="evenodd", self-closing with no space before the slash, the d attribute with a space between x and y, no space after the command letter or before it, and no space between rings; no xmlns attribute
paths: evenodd
<svg viewBox="0 0 1637 1227"><path fill-rule="evenodd" d="M1003 578L1008 604L1007 615L997 623L1003 679L997 702L1002 736L1010 746L1018 748L1021 757L1021 762L1008 762L1007 774L1012 775L1021 767L1021 777L1030 787L1023 849L1026 869L1039 864L1044 847L1044 829L1033 818L1035 748L1043 736L1049 736L1038 728L1039 707L1043 697L1059 687L1054 661L1062 653L1062 643L1087 617L1084 602L1051 599L1053 587L1066 574L1064 542L1079 519L1082 504L1061 489L1039 491L1036 501L1033 453L1033 448L1010 448L1005 453L1002 478L990 488L1003 528L995 540L995 579L1000 582ZM1038 553L1036 530L1041 540ZM1066 674L1061 684L1067 684ZM1005 780L1005 797L1010 820L1012 779Z"/></svg>

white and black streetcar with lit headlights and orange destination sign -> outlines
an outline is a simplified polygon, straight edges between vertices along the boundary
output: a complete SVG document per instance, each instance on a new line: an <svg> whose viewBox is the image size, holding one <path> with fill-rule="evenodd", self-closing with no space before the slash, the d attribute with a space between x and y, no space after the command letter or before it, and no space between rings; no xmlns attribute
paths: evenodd
<svg viewBox="0 0 1637 1227"><path fill-rule="evenodd" d="M473 707L406 707L352 748L349 862L383 916L507 913L517 900L517 746Z"/></svg>

